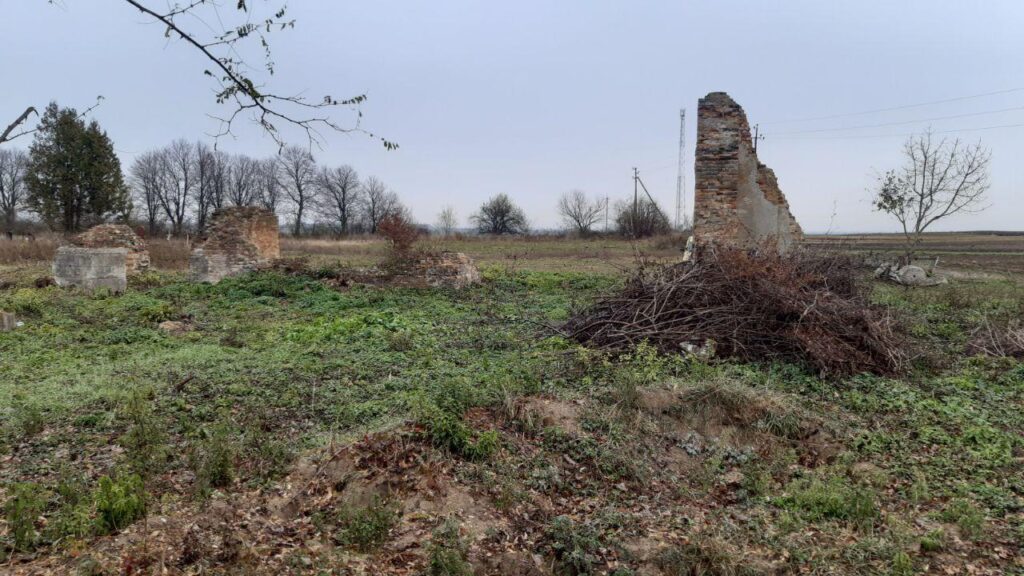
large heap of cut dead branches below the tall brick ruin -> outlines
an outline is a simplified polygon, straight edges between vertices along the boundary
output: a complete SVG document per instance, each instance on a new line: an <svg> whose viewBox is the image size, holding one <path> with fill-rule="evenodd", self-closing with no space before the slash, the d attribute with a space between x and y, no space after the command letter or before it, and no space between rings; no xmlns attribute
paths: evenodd
<svg viewBox="0 0 1024 576"><path fill-rule="evenodd" d="M856 262L810 251L709 247L691 262L641 266L564 331L613 352L714 342L718 356L805 362L829 375L894 374L906 363L895 321L868 302Z"/></svg>

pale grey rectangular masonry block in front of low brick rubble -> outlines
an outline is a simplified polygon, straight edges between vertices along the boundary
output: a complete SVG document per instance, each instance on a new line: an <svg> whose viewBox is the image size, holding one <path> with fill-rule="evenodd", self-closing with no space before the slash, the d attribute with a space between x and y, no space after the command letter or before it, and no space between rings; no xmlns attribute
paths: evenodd
<svg viewBox="0 0 1024 576"><path fill-rule="evenodd" d="M127 248L61 246L53 258L53 278L62 288L124 292L128 287L127 258Z"/></svg>

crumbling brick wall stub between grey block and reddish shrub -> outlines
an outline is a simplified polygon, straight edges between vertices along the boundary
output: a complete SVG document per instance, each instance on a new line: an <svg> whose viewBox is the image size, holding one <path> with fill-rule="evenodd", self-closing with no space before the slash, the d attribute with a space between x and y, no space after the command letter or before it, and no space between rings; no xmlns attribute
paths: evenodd
<svg viewBox="0 0 1024 576"><path fill-rule="evenodd" d="M230 206L213 213L206 241L193 251L188 269L195 281L217 283L279 257L278 216L256 206Z"/></svg>

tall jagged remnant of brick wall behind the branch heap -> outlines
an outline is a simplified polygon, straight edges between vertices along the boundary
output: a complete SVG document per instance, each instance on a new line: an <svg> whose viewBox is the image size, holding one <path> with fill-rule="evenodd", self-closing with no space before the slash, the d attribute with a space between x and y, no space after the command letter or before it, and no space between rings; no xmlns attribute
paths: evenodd
<svg viewBox="0 0 1024 576"><path fill-rule="evenodd" d="M693 236L698 243L753 245L803 239L775 173L758 161L746 115L725 92L697 105Z"/></svg>

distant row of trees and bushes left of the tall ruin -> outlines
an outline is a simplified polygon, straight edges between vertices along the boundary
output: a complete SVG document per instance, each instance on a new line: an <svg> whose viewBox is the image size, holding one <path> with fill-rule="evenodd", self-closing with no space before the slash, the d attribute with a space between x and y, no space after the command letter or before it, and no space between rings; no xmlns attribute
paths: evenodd
<svg viewBox="0 0 1024 576"><path fill-rule="evenodd" d="M202 234L223 206L266 208L295 236L377 234L393 218L412 223L410 210L380 178L362 178L345 164L319 164L306 148L285 147L254 158L177 139L138 155L125 177L106 133L73 109L50 104L34 137L28 153L0 149L5 231L28 211L66 233L116 220L139 224L150 235ZM671 230L665 212L649 200L609 207L606 200L574 190L562 195L557 209L564 230L579 236L595 234L602 219L627 237ZM483 202L469 222L483 235L529 232L525 211L506 194ZM435 232L451 235L458 228L455 209L443 207Z"/></svg>

